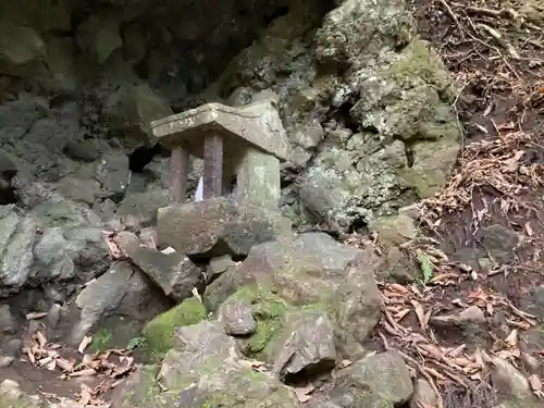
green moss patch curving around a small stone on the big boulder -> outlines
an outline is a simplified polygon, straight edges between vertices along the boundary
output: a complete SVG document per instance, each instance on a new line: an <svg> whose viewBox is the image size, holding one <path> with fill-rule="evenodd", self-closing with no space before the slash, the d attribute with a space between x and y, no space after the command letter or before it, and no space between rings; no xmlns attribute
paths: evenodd
<svg viewBox="0 0 544 408"><path fill-rule="evenodd" d="M271 289L255 285L239 288L232 298L251 306L257 321L257 331L244 344L243 351L256 357L263 353L269 343L280 333L285 313L294 307Z"/></svg>

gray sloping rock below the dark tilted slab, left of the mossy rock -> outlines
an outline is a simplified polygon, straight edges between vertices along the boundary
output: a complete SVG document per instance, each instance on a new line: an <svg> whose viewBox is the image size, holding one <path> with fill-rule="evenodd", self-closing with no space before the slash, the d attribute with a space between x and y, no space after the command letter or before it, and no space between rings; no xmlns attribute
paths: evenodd
<svg viewBox="0 0 544 408"><path fill-rule="evenodd" d="M126 261L114 263L106 274L86 286L75 305L81 310L70 335L70 343L74 345L101 318L125 316L145 321L164 310L163 299L150 287L145 275Z"/></svg>

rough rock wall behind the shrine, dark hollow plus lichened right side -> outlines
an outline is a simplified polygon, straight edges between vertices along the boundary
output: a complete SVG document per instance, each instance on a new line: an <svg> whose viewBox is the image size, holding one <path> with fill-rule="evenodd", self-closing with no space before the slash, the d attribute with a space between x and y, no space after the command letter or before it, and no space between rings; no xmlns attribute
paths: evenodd
<svg viewBox="0 0 544 408"><path fill-rule="evenodd" d="M459 149L449 78L400 0L21 0L0 16L3 295L100 274L100 228L152 225L168 152L132 174L129 153L153 144L149 121L205 101L280 96L298 228L395 213Z"/></svg>

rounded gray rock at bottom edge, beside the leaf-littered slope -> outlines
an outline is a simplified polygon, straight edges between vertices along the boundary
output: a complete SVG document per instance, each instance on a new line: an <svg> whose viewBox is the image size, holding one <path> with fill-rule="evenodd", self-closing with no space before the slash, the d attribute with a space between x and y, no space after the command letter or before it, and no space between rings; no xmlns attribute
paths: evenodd
<svg viewBox="0 0 544 408"><path fill-rule="evenodd" d="M344 408L400 406L413 393L410 372L394 351L366 357L338 373L331 400Z"/></svg>

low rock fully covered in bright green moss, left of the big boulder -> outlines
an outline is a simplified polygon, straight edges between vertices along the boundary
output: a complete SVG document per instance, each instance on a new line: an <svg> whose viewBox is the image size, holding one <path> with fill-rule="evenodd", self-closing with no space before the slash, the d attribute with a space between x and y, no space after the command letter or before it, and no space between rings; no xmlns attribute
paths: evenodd
<svg viewBox="0 0 544 408"><path fill-rule="evenodd" d="M151 359L162 358L174 346L175 327L197 324L206 318L205 306L193 297L148 322L143 334Z"/></svg>

